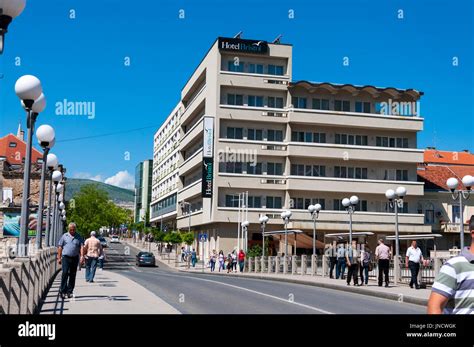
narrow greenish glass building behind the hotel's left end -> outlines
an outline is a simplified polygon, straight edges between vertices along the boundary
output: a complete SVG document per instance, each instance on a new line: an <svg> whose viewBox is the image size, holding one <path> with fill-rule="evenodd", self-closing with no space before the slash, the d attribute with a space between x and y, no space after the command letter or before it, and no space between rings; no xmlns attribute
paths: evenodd
<svg viewBox="0 0 474 347"><path fill-rule="evenodd" d="M152 166L153 161L149 159L142 161L135 167L135 223L146 221L146 215L147 212L149 212L151 201Z"/></svg>

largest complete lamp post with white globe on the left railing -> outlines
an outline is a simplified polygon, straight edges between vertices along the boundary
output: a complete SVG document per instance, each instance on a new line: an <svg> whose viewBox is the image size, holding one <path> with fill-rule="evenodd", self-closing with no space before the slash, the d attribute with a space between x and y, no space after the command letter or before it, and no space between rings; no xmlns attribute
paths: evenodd
<svg viewBox="0 0 474 347"><path fill-rule="evenodd" d="M31 173L31 150L32 137L36 117L46 107L46 101L42 94L43 88L38 78L31 75L20 77L15 83L15 93L22 101L27 112L27 144L26 156L23 169L23 195L21 199L20 237L18 240L18 256L27 256L28 247L28 216L30 212L30 173Z"/></svg>

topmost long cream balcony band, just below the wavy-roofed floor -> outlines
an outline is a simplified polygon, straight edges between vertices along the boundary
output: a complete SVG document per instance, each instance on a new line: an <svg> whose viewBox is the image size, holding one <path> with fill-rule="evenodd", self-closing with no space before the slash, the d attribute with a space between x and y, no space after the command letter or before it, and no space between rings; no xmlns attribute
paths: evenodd
<svg viewBox="0 0 474 347"><path fill-rule="evenodd" d="M385 116L379 114L296 108L289 109L288 111L290 123L400 131L423 130L423 118L421 117Z"/></svg>

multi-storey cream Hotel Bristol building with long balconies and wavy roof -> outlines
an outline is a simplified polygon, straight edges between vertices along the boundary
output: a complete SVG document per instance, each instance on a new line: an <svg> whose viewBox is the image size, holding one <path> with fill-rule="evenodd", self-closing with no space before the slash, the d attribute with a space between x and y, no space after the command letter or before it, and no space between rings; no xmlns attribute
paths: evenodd
<svg viewBox="0 0 474 347"><path fill-rule="evenodd" d="M155 135L152 221L175 219L180 230L207 234L206 254L227 252L237 246L239 193L248 191L249 244L261 243L261 215L269 217L267 231L282 230L280 214L289 209L288 228L305 232L298 236L301 253L311 249L310 204L323 207L319 240L348 231L341 200L352 195L360 199L354 232L392 235L385 191L403 185L408 195L400 232L431 232L416 203L423 196L417 181L423 93L293 81L292 61L287 44L213 43ZM163 171L168 160L169 171ZM157 203L168 200L160 212Z"/></svg>

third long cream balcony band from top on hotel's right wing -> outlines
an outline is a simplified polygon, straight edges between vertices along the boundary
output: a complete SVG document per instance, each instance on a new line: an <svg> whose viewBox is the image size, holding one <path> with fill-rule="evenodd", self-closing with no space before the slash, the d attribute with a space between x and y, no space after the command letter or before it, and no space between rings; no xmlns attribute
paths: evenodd
<svg viewBox="0 0 474 347"><path fill-rule="evenodd" d="M385 194L387 189L403 185L409 196L423 196L423 182L384 181L335 177L288 176L288 190L353 194Z"/></svg>

